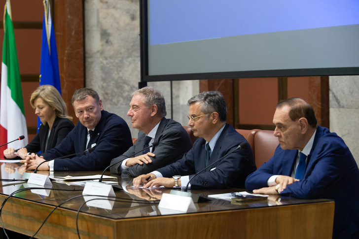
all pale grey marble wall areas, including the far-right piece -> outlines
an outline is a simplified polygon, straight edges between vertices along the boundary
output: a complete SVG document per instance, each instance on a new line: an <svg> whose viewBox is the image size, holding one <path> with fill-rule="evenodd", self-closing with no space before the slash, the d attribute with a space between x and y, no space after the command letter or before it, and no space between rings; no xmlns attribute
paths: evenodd
<svg viewBox="0 0 359 239"><path fill-rule="evenodd" d="M126 113L140 81L139 0L85 0L84 6L86 86L99 92L106 110L131 126ZM330 131L343 137L359 164L359 76L333 76L329 84ZM164 94L167 117L186 125L186 102L199 92L198 81L174 81L172 97L170 82L148 85Z"/></svg>

